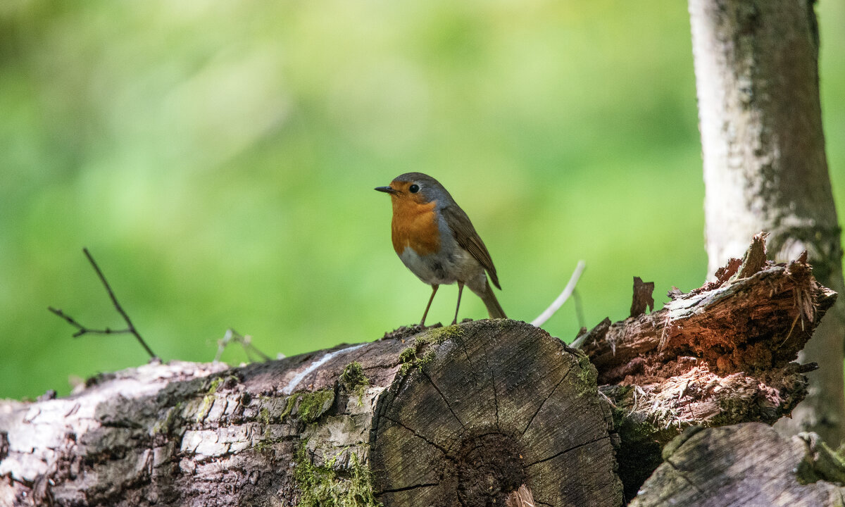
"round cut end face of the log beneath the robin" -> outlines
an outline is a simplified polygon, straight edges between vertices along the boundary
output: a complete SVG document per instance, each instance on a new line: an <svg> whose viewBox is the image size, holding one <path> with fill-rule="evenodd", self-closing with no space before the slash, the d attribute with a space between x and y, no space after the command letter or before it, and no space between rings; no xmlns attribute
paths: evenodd
<svg viewBox="0 0 845 507"><path fill-rule="evenodd" d="M420 358L377 402L373 486L385 507L619 505L612 428L581 352L530 324L482 320L417 335Z"/></svg>

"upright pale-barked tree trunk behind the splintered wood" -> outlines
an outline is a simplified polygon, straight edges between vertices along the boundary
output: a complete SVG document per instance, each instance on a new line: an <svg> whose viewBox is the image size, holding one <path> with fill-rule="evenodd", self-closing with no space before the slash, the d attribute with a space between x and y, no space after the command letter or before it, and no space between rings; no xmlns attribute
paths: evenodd
<svg viewBox="0 0 845 507"><path fill-rule="evenodd" d="M756 232L776 261L806 250L837 292L842 247L827 172L815 0L690 0L706 185L710 273ZM802 361L819 363L810 394L784 430L838 444L845 422L845 302L820 325Z"/></svg>

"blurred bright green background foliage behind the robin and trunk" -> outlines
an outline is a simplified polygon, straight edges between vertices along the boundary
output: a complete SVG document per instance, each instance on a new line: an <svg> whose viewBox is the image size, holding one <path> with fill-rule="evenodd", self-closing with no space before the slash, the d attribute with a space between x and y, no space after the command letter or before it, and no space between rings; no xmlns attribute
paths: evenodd
<svg viewBox="0 0 845 507"><path fill-rule="evenodd" d="M842 216L845 3L818 14ZM275 356L417 322L430 289L373 191L402 172L472 217L515 319L578 259L589 326L627 315L633 275L659 306L706 271L684 2L3 0L0 157L0 397L147 360L46 311L122 327L84 246L166 360L210 361L230 326ZM546 328L573 338L572 304Z"/></svg>

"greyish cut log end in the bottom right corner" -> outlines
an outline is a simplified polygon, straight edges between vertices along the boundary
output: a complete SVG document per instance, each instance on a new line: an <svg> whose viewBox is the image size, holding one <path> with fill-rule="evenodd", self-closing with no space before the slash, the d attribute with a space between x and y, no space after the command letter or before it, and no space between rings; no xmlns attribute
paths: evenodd
<svg viewBox="0 0 845 507"><path fill-rule="evenodd" d="M769 426L690 428L631 507L825 507L845 504L845 466L815 433Z"/></svg>

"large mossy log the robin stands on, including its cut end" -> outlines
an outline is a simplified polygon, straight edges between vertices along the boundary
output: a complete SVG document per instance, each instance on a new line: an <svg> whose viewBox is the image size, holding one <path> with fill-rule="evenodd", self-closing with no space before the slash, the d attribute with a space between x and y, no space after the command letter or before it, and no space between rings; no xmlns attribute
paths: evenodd
<svg viewBox="0 0 845 507"><path fill-rule="evenodd" d="M584 355L483 320L3 402L0 504L620 505L614 439Z"/></svg>

